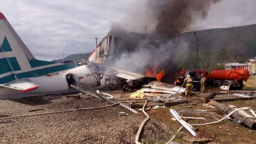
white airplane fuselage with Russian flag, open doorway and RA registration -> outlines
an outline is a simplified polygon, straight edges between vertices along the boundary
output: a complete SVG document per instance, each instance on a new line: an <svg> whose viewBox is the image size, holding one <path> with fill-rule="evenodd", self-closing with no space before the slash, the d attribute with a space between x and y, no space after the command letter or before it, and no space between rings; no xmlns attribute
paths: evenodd
<svg viewBox="0 0 256 144"><path fill-rule="evenodd" d="M90 76L89 76L90 75ZM87 83L91 87L100 85L100 73L91 71L87 65L82 65L76 68L67 69L64 71L58 71L55 73L49 73L44 76L29 77L24 79L15 79L11 83L16 83L20 85L19 81L25 80L35 83L39 88L35 90L29 90L26 92L18 93L18 90L10 88L0 88L0 99L13 99L22 98L27 96L41 96L41 95L55 95L63 93L72 93L74 90L69 90L69 84L67 77L73 76L74 81L72 85L82 85Z"/></svg>

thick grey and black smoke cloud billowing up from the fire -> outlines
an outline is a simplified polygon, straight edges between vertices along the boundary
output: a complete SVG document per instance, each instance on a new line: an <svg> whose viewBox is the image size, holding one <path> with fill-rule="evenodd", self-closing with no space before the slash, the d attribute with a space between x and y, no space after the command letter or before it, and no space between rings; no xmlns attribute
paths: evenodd
<svg viewBox="0 0 256 144"><path fill-rule="evenodd" d="M114 23L114 36L119 48L111 65L145 74L146 68L157 65L165 70L163 82L173 82L180 71L176 59L189 51L189 46L177 38L189 31L198 19L205 19L212 3L218 0L148 0L131 9L122 23ZM135 10L136 9L136 10ZM139 31L150 34L127 33ZM175 38L176 37L176 38Z"/></svg>

